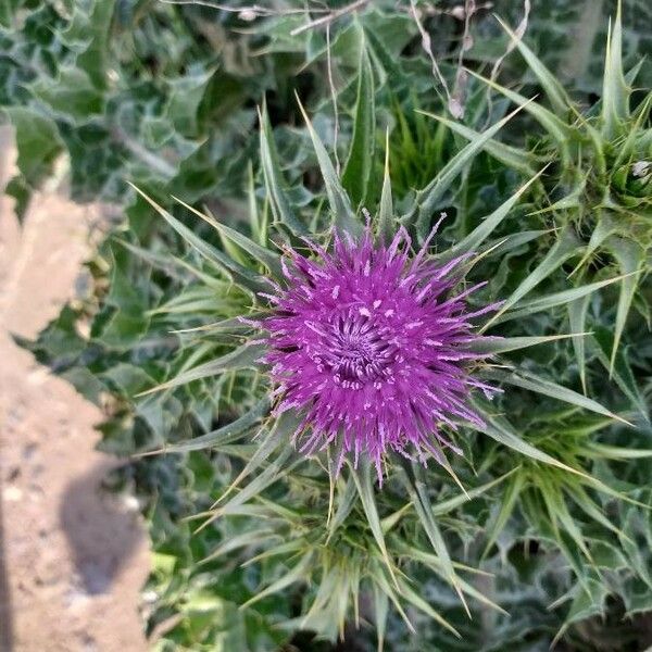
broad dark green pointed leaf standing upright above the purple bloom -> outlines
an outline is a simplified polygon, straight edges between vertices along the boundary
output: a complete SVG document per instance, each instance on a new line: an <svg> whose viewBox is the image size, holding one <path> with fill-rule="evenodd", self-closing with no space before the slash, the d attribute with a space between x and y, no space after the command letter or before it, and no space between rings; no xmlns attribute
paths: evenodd
<svg viewBox="0 0 652 652"><path fill-rule="evenodd" d="M342 172L342 186L351 201L364 205L374 167L376 143L376 113L374 108L374 75L364 45L364 33L360 27L362 45L358 73L358 99L353 118L353 137L349 156Z"/></svg>

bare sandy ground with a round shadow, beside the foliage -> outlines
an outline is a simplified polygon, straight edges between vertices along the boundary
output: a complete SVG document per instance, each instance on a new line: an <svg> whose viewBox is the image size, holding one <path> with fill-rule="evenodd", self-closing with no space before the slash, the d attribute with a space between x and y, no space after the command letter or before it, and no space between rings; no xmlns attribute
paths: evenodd
<svg viewBox="0 0 652 652"><path fill-rule="evenodd" d="M0 129L0 188L11 174ZM148 550L134 505L102 493L100 412L39 367L34 337L74 292L98 210L55 191L18 227L0 197L0 650L138 652Z"/></svg>

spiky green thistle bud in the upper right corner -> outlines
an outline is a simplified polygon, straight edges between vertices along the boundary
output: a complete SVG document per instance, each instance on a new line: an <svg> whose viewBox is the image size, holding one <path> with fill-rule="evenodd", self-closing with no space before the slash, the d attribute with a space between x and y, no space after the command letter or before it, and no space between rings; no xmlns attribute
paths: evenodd
<svg viewBox="0 0 652 652"><path fill-rule="evenodd" d="M544 136L531 149L510 147L512 162L523 170L534 161L550 165L542 177L541 217L560 234L565 256L580 255L570 271L576 284L594 280L604 267L623 276L616 306L609 371L613 375L618 346L640 279L649 269L652 247L652 93L635 96L637 75L643 61L627 74L623 67L620 3L610 25L604 60L602 97L588 109L570 99L554 74L535 52L501 23L543 90L546 102L524 95L469 71L469 74L515 103L534 120ZM437 117L437 116L435 116ZM440 118L461 136L477 136L464 125ZM560 258L559 264L567 260ZM642 298L641 298L642 299ZM644 301L644 300L643 300ZM570 319L585 330L588 299L570 302ZM586 391L586 346L575 340L575 351Z"/></svg>

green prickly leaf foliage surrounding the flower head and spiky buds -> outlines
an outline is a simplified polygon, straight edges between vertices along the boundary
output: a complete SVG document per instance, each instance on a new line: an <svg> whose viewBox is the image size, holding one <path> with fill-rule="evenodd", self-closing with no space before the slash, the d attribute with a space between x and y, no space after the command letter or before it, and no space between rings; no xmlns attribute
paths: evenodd
<svg viewBox="0 0 652 652"><path fill-rule="evenodd" d="M334 2L329 9L343 4ZM489 76L509 43L491 12L516 27L524 7L505 1L488 11L477 5L465 35L464 20L457 17L463 16L460 10L464 7L456 2L419 3L431 54L453 97L455 89L466 84L464 96L459 96L464 106L463 124L482 130L506 113L509 102L500 93L493 93L488 102L486 86L471 76L461 82L460 51L464 48L464 65ZM233 2L227 9L238 8ZM343 166L355 122L362 47L373 53L375 77L375 154L369 156L374 174L365 199L369 210L380 195L386 128L394 201L400 209L410 206L415 189L425 186L466 145L442 123L415 113L422 110L442 114L447 101L441 84L432 75L430 57L422 47L409 3L376 2L359 14L358 23L351 15L343 16L331 24L328 40L324 29L292 35L306 23L303 13L288 13L297 9L292 3L279 2L273 9L271 15L243 20L249 18L246 13L154 0L0 3L0 105L16 130L20 166L20 175L7 191L17 199L18 213L24 211L34 188L51 175L62 174L67 175L75 200L99 200L117 209L115 223L88 263L85 291L36 342L24 344L104 409L102 448L125 459L163 446L183 446L231 422L258 398L255 380L252 389L251 377L238 374L202 378L174 391L136 396L228 350L223 339L208 336L198 340L175 331L238 314L246 298L227 292L224 284L210 287L198 281L192 268L205 273L205 264L127 181L163 206L172 210L174 205L179 220L224 250L229 251L228 241L174 204L172 196L200 210L208 206L234 228L247 231L253 226L254 234L256 229L262 233L273 221L259 153L256 106L264 98L292 204L305 220L323 214L318 166L293 93L297 91L309 109L316 131L329 149L337 131L334 153ZM607 17L615 11L614 2L555 0L535 1L529 12L526 42L584 110L594 105L603 92ZM625 70L652 50L648 28L651 18L647 2L624 3ZM331 83L327 83L329 77ZM651 77L650 65L643 65L636 86L650 88ZM500 80L522 89L526 97L546 95L517 52L502 60ZM643 97L642 92L635 93L632 104L640 104ZM546 149L546 130L531 116L512 121L500 133L500 140L538 155L532 160L538 164L556 155ZM639 152L641 159L649 160L649 148L648 142L648 150ZM438 210L446 210L451 218L441 246L466 235L481 216L504 202L523 183L522 172L487 152L479 153L461 175L459 185L439 201ZM531 214L559 199L555 181L562 175L554 166L551 175L547 185L534 188L524 198L503 225L504 233L498 236L542 227L550 231L551 226L559 227L581 212L574 206L552 217L548 214L548 222ZM637 192L649 201L649 185ZM582 198L582 206L591 208L589 199ZM641 202L632 210L643 220L650 217L649 203ZM592 227L587 228L590 238ZM554 242L554 233L542 234L505 254L497 268L479 268L478 275L492 277L490 291L506 297ZM647 259L641 264L647 265ZM566 288L566 276L573 267L560 266L540 289L550 293ZM592 260L587 280L609 278L613 268L613 256L603 253ZM648 328L650 290L644 281L632 296L618 374L612 383L603 383L618 297L615 286L610 286L591 294L590 304L584 309L588 315L586 329L595 334L595 343L586 351L587 378L592 398L613 411L634 415L639 428L634 434L611 428L599 441L650 449L651 430L645 419L652 346ZM517 335L576 331L568 319L573 316L564 310L548 311L503 328L507 335L512 327ZM512 360L530 371L546 368L556 383L581 390L577 351L572 342L529 349L527 353L515 353ZM541 418L532 414L531 397L513 390L510 416L528 441L543 450L549 446L549 452L555 455L577 457L573 450L564 449L569 434L600 432L601 424L584 413L562 410L552 401L541 403L541 399L535 405ZM560 443L562 437L564 446ZM581 453L582 440L577 441ZM161 650L212 650L222 645L244 651L290 644L304 650L317 650L319 645L330 649L327 639L333 636L317 641L314 634L299 631L301 627L293 622L306 600L304 586L293 586L238 610L261 586L281 577L291 567L291 560L284 563L272 557L242 567L251 555L240 549L210 563L199 563L222 542L250 531L251 523L246 517L221 519L197 535L192 535L196 525L185 521L208 510L233 481L243 464L241 452L200 449L130 459L113 478L116 488L139 496L149 523L155 554L145 592L148 631L156 629L160 638L155 644ZM476 436L469 437L466 452L469 464L456 468L466 486L489 482L513 467L509 454ZM649 502L649 462L644 457L615 463L582 457L582 464L629 498ZM521 468L530 474L523 480L527 492L518 496L518 506L510 514L498 544L482 561L481 567L494 578L478 580L485 593L492 595L511 617L476 607L474 620L467 622L450 589L436 574L426 574L418 592L454 622L463 632L462 642L453 641L418 610L411 610L417 634L409 635L392 613L386 649L547 649L561 628L561 645L566 649L643 649L644 631L638 614L652 609L649 512L609 496L593 494L600 512L629 536L631 543L625 540L619 548L612 544L612 532L598 527L574 504L573 522L581 529L581 537L591 541L593 555L601 555L595 565L599 573L581 560L581 554L574 566L567 562L568 556L577 554L572 550L573 541L568 542L568 532L554 531L554 518L540 491L546 484L563 485L566 478L546 475L546 467L528 468L527 463ZM434 474L434 500L443 501L459 493L450 479L436 469L429 473ZM509 504L510 488L521 473L444 517L442 527L454 559L477 565L485 546L478 550L473 542L477 537L486 538L496 525L500 507ZM310 475L308 472L309 479ZM311 482L301 476L297 482L300 493L292 499L294 506L300 507L302 501L321 504L318 478L313 478L314 496L306 488ZM565 487L561 491L569 496ZM287 496L271 490L267 498L278 499L280 504ZM364 529L364 514L358 512ZM300 513L298 518L306 515ZM302 527L310 529L311 523ZM567 549L560 539L568 544ZM631 567L636 573L627 572ZM588 592L577 589L577 575L586 575L581 579L589 586ZM566 600L560 601L563 597ZM551 603L554 609L548 609ZM363 601L361 609L363 620L374 619L371 604L365 606ZM605 620L591 619L602 614ZM623 619L624 614L629 617ZM376 644L373 627L366 624L360 630L350 624L346 640L348 649L374 649Z"/></svg>

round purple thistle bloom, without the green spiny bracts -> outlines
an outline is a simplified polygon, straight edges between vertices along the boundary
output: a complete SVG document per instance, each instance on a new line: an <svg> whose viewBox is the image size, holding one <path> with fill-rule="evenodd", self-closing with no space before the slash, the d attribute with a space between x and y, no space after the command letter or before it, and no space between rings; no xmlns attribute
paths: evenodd
<svg viewBox="0 0 652 652"><path fill-rule="evenodd" d="M259 326L268 331L275 414L300 412L293 440L305 454L333 444L337 472L347 454L355 465L366 454L381 482L387 451L442 462L442 448L461 453L442 424L482 426L467 397L494 389L468 371L484 358L468 350L480 339L468 319L498 304L467 312L467 296L485 284L451 290L471 254L437 265L426 256L430 238L413 258L403 227L389 246L374 244L368 225L359 241L335 235L333 252L306 240L315 255L288 249L287 287L265 294L272 314Z"/></svg>

